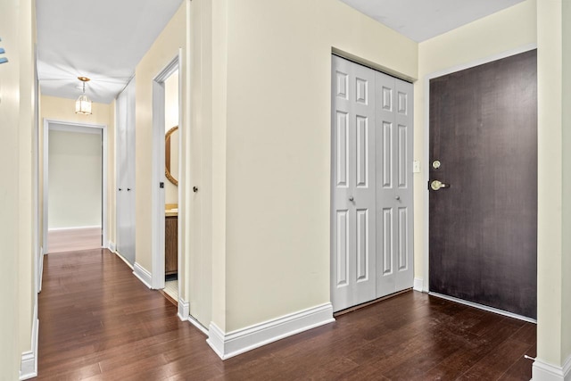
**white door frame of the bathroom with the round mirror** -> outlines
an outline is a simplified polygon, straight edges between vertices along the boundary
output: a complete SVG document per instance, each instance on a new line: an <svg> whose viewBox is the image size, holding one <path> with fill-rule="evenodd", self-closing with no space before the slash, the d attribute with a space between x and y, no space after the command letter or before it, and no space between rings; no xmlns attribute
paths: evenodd
<svg viewBox="0 0 571 381"><path fill-rule="evenodd" d="M181 52L178 49L178 54L174 57L153 79L153 190L152 190L152 278L151 288L161 289L164 288L164 188L160 184L164 184L167 179L164 175L165 168L165 147L164 147L164 117L165 117L165 95L164 95L164 82L170 75L178 70L181 73L180 65L182 63ZM181 133L180 115L182 111L181 104L181 80L182 75L178 76L178 134ZM178 139L178 152L180 150L182 139ZM180 157L178 155L178 168L180 167ZM180 187L182 186L182 178L178 178L178 199L180 200ZM180 242L180 224L178 224L178 242ZM180 245L178 244L178 248ZM178 260L180 259L180 250L178 250ZM180 261L178 261L180 263ZM180 281L178 282L180 293Z"/></svg>

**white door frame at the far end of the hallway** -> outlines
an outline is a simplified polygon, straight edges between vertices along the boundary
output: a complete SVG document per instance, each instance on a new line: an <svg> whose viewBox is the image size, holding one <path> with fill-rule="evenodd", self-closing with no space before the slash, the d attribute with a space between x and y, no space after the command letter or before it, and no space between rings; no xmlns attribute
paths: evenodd
<svg viewBox="0 0 571 381"><path fill-rule="evenodd" d="M58 125L58 129L70 131L70 132L80 132L80 133L88 133L89 130L92 128L100 128L102 133L102 160L103 160L103 169L102 169L102 220L101 220L101 229L102 229L102 247L108 248L109 243L107 242L107 125L104 124L90 124L90 123L79 123L75 121L68 121L68 120L54 120L54 119L46 119L44 118L44 218L43 218L43 236L42 236L42 247L43 252L47 253L47 217L48 217L48 196L49 196L49 131L50 128L54 128L54 125Z"/></svg>

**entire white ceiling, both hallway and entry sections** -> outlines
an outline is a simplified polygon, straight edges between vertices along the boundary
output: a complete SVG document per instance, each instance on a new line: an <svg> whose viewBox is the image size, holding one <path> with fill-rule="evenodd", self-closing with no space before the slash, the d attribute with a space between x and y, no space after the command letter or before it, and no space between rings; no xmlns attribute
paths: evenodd
<svg viewBox="0 0 571 381"><path fill-rule="evenodd" d="M341 1L420 42L523 0ZM91 79L87 95L94 102L110 103L181 3L37 0L37 71L42 94L75 99L81 94L77 78L85 76Z"/></svg>

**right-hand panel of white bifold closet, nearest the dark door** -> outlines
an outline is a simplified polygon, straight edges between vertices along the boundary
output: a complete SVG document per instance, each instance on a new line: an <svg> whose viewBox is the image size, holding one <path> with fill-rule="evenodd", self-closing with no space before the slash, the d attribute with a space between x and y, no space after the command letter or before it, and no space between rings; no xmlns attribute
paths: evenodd
<svg viewBox="0 0 571 381"><path fill-rule="evenodd" d="M412 84L376 73L377 298L412 287Z"/></svg>

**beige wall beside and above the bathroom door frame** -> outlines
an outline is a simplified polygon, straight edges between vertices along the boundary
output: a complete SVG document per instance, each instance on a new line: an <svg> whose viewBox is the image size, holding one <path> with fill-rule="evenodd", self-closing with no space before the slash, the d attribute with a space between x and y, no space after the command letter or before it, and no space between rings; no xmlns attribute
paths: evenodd
<svg viewBox="0 0 571 381"><path fill-rule="evenodd" d="M136 261L152 272L153 79L186 46L186 2L137 64L136 80ZM184 73L183 73L184 75ZM184 79L184 78L183 78ZM184 91L184 87L183 87ZM183 96L184 101L184 96ZM178 219L184 219L181 213Z"/></svg>

